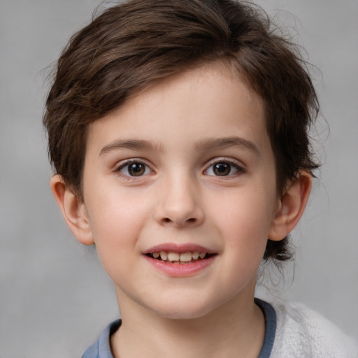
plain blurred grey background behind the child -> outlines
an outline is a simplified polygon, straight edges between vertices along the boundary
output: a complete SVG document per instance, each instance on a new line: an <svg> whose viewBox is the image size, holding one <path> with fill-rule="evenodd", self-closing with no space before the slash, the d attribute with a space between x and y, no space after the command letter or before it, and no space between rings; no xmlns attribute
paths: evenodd
<svg viewBox="0 0 358 358"><path fill-rule="evenodd" d="M358 1L257 2L299 33L322 70L313 78L331 129L321 118L325 164L294 233L294 283L287 266L271 293L358 337ZM41 127L45 68L97 5L0 0L0 357L80 357L118 315L96 253L71 236L52 198Z"/></svg>

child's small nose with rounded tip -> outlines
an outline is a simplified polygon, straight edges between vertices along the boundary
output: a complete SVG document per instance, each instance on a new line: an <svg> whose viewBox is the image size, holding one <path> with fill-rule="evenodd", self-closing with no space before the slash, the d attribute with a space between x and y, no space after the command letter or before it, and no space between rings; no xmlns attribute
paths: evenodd
<svg viewBox="0 0 358 358"><path fill-rule="evenodd" d="M204 220L198 185L187 176L167 178L159 185L155 220L172 227L194 227Z"/></svg>

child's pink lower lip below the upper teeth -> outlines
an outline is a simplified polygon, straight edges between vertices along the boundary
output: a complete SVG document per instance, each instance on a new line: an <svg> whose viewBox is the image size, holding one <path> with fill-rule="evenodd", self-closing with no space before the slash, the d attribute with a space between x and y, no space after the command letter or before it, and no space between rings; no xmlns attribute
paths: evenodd
<svg viewBox="0 0 358 358"><path fill-rule="evenodd" d="M171 262L163 262L144 255L145 259L147 259L152 266L155 266L157 270L162 271L162 273L171 277L185 277L199 273L204 268L210 266L210 264L213 264L216 256L217 255L213 255L208 257L208 259L200 259L190 264L172 264Z"/></svg>

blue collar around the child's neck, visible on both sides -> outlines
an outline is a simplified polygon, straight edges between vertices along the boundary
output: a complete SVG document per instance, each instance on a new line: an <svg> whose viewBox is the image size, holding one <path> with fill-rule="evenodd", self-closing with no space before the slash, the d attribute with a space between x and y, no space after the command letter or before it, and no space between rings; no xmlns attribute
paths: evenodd
<svg viewBox="0 0 358 358"><path fill-rule="evenodd" d="M276 331L276 314L270 303L255 299L255 303L261 308L265 317L265 338L264 345L262 345L261 352L257 358L269 358L275 341ZM83 354L82 358L113 358L110 352L110 336L120 328L122 320L116 320L106 327L102 332L99 340L88 348Z"/></svg>

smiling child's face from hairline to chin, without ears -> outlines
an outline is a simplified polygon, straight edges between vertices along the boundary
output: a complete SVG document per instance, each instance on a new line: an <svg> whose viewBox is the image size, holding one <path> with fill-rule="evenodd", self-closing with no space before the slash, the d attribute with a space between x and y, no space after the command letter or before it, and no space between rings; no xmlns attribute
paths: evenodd
<svg viewBox="0 0 358 358"><path fill-rule="evenodd" d="M164 80L94 122L83 205L121 310L190 318L252 297L275 187L262 100L223 66ZM150 255L160 251L194 260Z"/></svg>

